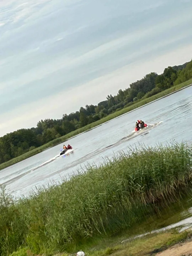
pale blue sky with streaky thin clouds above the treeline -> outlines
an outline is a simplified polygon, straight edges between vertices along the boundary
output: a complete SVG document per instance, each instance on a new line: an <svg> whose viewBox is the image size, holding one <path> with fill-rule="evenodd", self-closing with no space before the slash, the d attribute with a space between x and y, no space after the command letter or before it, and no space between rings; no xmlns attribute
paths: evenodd
<svg viewBox="0 0 192 256"><path fill-rule="evenodd" d="M0 136L192 59L191 0L0 0Z"/></svg>

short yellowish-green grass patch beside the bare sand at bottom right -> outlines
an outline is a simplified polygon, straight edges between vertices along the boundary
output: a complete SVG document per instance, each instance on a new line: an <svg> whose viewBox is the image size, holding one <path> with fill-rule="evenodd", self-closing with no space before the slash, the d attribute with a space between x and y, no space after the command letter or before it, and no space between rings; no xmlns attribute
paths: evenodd
<svg viewBox="0 0 192 256"><path fill-rule="evenodd" d="M165 251L178 242L188 242L192 237L192 231L187 230L178 233L176 230L162 232L159 234L147 235L144 238L136 239L121 244L117 239L110 241L110 245L100 244L93 248L87 248L87 256L151 256L158 252ZM117 243L118 241L118 243ZM105 241L108 242L108 241ZM176 250L177 252L177 250ZM167 255L170 256L168 253ZM182 254L184 256L184 254Z"/></svg>

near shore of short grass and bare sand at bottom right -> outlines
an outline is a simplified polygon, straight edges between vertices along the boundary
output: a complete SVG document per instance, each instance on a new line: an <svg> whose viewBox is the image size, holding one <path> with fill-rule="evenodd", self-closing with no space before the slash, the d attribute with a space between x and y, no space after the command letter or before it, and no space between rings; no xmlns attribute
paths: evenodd
<svg viewBox="0 0 192 256"><path fill-rule="evenodd" d="M161 232L156 235L148 235L145 238L138 238L126 244L117 245L92 252L90 248L86 255L107 256L110 251L111 256L189 256L192 253L192 230L187 229L179 233L172 229L169 232ZM84 250L86 253L86 251ZM72 254L73 255L73 254ZM74 254L75 255L75 254Z"/></svg>

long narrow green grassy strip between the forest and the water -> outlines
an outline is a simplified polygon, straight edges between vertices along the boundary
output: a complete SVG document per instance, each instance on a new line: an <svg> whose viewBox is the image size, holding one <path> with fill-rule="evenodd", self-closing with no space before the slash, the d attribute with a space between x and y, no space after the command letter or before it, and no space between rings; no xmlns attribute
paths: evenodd
<svg viewBox="0 0 192 256"><path fill-rule="evenodd" d="M135 108L144 106L147 103L150 103L150 102L152 102L154 100L157 100L157 99L159 99L161 97L165 97L165 96L167 96L167 95L169 95L169 94L171 94L173 92L176 92L177 90L180 90L180 89L190 85L191 83L192 83L192 79L190 79L190 80L188 80L186 82L183 82L180 85L173 86L173 87L171 87L171 88L169 88L169 89L167 89L165 91L162 91L162 92L160 92L160 93L158 93L158 94L156 94L154 96L151 96L149 98L146 98L146 99L143 99L143 100L141 99L141 100L135 102L133 105L131 105L129 107L123 108L122 110L114 112L114 113L108 115L107 117L104 117L104 118L102 118L102 119L100 119L100 120L98 120L98 121L96 121L94 123L88 124L85 127L82 127L82 128L77 129L77 130L75 130L73 132L70 132L70 133L68 133L68 134L66 134L66 135L64 135L64 136L62 136L60 138L54 139L51 142L49 142L47 144L44 144L43 146L41 146L39 148L33 149L33 150L31 150L31 151L29 151L29 152L27 152L27 153L25 153L25 154L23 154L21 156L18 156L17 158L14 158L14 159L11 159L10 161L2 163L0 165L0 170L4 169L4 168L6 168L6 167L8 167L10 165L16 164L17 162L20 162L20 161L22 161L22 160L24 160L26 158L29 158L29 157L31 157L33 155L36 155L36 154L42 152L43 150L45 150L45 149L47 149L47 148L49 148L51 146L60 144L60 143L66 141L66 140L68 140L68 139L70 139L70 138L72 138L72 137L74 137L74 136L76 136L76 135L78 135L78 134L80 134L82 132L86 132L86 131L88 131L90 129L93 129L93 128L95 128L95 127L97 127L97 126L99 126L99 125L101 125L101 124L103 124L105 122L110 121L113 118L116 118L118 116L121 116L122 114L130 112L130 111L134 110Z"/></svg>

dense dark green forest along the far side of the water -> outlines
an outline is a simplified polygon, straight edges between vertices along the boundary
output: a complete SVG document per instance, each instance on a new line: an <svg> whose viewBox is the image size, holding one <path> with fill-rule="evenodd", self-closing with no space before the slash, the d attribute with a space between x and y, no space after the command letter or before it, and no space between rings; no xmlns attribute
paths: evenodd
<svg viewBox="0 0 192 256"><path fill-rule="evenodd" d="M147 74L127 89L120 89L117 95L108 95L97 106L86 105L75 113L63 114L61 119L41 120L35 128L6 134L0 138L0 164L191 78L192 60L183 65L169 66L160 75Z"/></svg>

